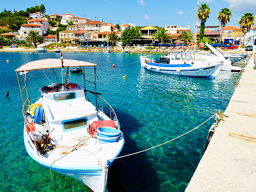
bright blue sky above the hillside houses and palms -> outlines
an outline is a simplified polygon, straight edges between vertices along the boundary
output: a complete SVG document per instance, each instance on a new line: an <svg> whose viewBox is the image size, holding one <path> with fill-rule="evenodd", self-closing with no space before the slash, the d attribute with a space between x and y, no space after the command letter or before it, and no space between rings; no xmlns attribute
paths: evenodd
<svg viewBox="0 0 256 192"><path fill-rule="evenodd" d="M76 0L76 1L29 1L0 0L0 10L26 10L27 7L44 4L46 14L72 13L77 17L91 20L118 23L135 23L137 26L178 25L188 27L194 32L196 23L197 0ZM244 13L254 13L256 16L256 0L200 0L199 5L207 3L212 11L206 25L220 25L218 12L227 7L232 10L232 19L227 25L240 27L237 23ZM256 22L254 26L256 25Z"/></svg>

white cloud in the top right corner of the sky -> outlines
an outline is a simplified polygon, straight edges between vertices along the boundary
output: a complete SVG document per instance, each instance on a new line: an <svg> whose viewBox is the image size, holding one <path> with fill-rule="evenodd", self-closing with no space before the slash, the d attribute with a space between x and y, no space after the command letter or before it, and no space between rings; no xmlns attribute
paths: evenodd
<svg viewBox="0 0 256 192"><path fill-rule="evenodd" d="M255 0L224 0L229 3L229 9L238 13L255 13Z"/></svg>

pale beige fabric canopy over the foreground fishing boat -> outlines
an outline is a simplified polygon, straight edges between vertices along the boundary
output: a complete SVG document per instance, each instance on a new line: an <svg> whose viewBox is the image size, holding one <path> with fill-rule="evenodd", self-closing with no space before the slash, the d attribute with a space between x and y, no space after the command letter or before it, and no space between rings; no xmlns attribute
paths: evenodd
<svg viewBox="0 0 256 192"><path fill-rule="evenodd" d="M97 66L94 63L88 63L85 61L77 61L71 59L63 59L63 67L88 67ZM20 66L15 71L30 71L35 69L49 69L62 67L61 59L42 59L26 63Z"/></svg>

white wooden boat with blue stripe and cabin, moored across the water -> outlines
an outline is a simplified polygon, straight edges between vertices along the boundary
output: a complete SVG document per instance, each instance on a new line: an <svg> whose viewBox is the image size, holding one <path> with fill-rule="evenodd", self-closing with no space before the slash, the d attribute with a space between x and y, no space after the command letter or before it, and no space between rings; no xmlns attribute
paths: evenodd
<svg viewBox="0 0 256 192"><path fill-rule="evenodd" d="M149 55L150 56L150 55ZM221 70L222 63L192 59L191 52L173 52L159 59L140 56L141 66L147 70L180 76L214 78Z"/></svg>

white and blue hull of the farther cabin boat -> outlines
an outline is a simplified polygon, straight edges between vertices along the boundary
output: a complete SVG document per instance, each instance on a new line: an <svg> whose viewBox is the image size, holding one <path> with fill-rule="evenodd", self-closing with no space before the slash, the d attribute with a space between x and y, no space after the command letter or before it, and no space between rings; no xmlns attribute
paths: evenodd
<svg viewBox="0 0 256 192"><path fill-rule="evenodd" d="M149 59L150 60L150 59ZM182 61L184 63L184 61ZM141 65L143 68L154 71L158 73L165 73L171 75L180 76L194 76L194 77L204 77L204 78L214 78L218 75L221 70L221 63L205 65L200 67L189 67L189 64L176 64L176 67L164 67L165 64L145 62L145 58L141 56ZM186 67L182 67L185 65ZM149 67L150 66L150 67ZM169 65L170 66L170 65Z"/></svg>

